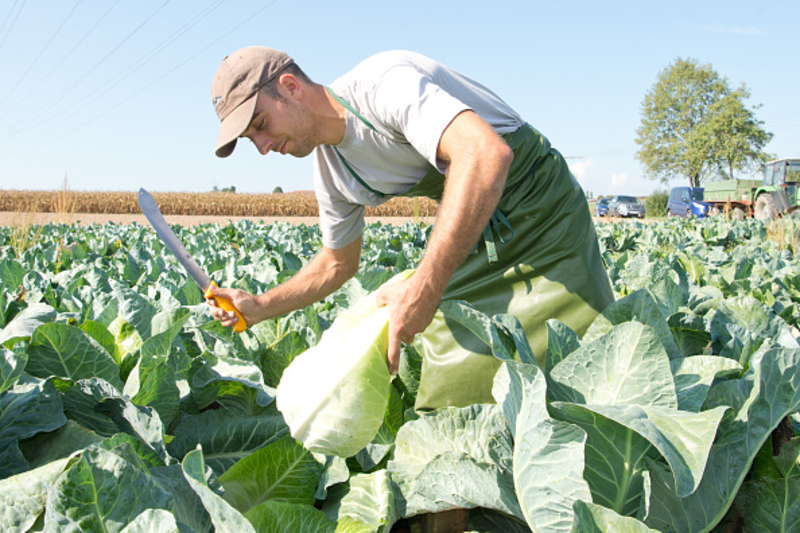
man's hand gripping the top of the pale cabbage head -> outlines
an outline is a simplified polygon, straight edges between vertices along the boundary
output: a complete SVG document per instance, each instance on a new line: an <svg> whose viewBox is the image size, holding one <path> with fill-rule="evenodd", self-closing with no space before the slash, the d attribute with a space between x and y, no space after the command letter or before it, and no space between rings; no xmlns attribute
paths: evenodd
<svg viewBox="0 0 800 533"><path fill-rule="evenodd" d="M377 294L379 307L389 307L389 373L400 368L401 343L410 344L425 331L439 306L439 296L426 294L414 277L384 286Z"/></svg>

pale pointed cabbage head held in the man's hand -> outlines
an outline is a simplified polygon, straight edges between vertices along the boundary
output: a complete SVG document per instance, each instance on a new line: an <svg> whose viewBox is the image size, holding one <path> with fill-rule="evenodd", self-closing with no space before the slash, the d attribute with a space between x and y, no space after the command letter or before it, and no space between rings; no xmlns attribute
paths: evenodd
<svg viewBox="0 0 800 533"><path fill-rule="evenodd" d="M388 309L378 308L373 292L292 361L276 400L292 437L312 452L340 457L351 457L372 441L389 400L388 336Z"/></svg>

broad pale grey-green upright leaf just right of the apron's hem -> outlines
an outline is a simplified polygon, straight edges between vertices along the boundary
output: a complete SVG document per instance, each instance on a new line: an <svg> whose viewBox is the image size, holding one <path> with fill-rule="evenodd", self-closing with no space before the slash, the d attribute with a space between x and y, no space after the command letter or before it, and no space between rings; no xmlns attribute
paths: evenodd
<svg viewBox="0 0 800 533"><path fill-rule="evenodd" d="M658 405L676 408L669 358L652 328L615 326L584 343L550 374L552 398L588 405Z"/></svg>

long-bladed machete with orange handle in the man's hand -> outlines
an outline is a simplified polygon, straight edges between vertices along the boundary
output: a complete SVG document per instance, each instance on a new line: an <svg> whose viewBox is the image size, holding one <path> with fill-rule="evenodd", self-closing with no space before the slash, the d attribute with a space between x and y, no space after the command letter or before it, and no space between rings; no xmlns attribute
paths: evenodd
<svg viewBox="0 0 800 533"><path fill-rule="evenodd" d="M178 236L175 235L175 232L172 231L172 228L167 224L164 215L161 214L161 210L158 209L158 204L156 204L152 195L144 189L139 189L139 207L166 247L169 248L169 251L175 255L181 266L186 269L189 276L197 283L200 290L203 291L203 295L206 298L214 298L217 305L224 310L236 313L239 320L233 325L233 331L244 331L247 328L247 322L245 322L244 317L239 313L239 310L233 306L230 300L211 294L211 285L217 286L217 284L211 281L211 278L200 268L200 265L192 259L192 256L189 255L189 252L183 247L181 241L178 240Z"/></svg>

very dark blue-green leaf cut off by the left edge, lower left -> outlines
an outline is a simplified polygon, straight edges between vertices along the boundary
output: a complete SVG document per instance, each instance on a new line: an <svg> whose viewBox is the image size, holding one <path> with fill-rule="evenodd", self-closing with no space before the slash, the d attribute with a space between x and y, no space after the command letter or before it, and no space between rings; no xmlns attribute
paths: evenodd
<svg viewBox="0 0 800 533"><path fill-rule="evenodd" d="M67 422L61 397L51 380L23 378L0 394L0 479L28 469L17 443Z"/></svg>

